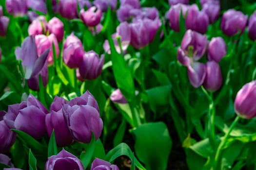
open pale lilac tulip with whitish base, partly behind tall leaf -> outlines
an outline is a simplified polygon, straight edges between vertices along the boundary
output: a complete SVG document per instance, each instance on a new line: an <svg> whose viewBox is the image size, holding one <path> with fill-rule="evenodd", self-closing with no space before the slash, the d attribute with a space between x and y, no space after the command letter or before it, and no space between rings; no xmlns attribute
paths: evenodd
<svg viewBox="0 0 256 170"><path fill-rule="evenodd" d="M116 51L118 53L121 53L121 49L117 40L118 37L120 38L122 51L125 51L128 48L131 41L131 30L127 22L120 23L120 25L117 27L117 33L112 35ZM110 54L110 46L108 40L104 42L103 48L107 53Z"/></svg>

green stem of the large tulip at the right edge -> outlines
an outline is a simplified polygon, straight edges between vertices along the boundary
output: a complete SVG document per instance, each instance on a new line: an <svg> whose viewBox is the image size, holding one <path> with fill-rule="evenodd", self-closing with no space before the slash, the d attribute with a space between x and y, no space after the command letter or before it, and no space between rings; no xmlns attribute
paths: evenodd
<svg viewBox="0 0 256 170"><path fill-rule="evenodd" d="M214 169L216 169L216 167L217 167L217 163L218 163L218 160L219 160L219 156L220 156L221 150L224 147L224 145L226 144L231 131L234 129L234 127L236 126L236 124L239 121L239 119L240 119L240 117L236 116L236 119L233 121L233 123L229 127L228 132L225 134L224 138L221 140L220 144L218 145L217 152L216 152L216 155L215 155Z"/></svg>

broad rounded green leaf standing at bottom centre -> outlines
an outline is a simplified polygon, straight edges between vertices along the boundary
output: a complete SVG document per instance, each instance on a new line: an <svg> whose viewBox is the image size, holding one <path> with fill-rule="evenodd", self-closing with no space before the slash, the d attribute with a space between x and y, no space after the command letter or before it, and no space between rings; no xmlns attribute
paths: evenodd
<svg viewBox="0 0 256 170"><path fill-rule="evenodd" d="M147 170L166 170L172 139L163 122L145 123L132 132L136 136L135 152Z"/></svg>

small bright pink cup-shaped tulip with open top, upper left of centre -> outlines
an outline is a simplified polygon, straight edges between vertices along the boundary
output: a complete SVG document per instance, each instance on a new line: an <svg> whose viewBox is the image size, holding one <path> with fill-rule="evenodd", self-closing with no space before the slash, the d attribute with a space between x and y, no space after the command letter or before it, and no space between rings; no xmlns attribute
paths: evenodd
<svg viewBox="0 0 256 170"><path fill-rule="evenodd" d="M81 9L80 17L83 23L89 27L95 27L100 23L102 13L100 9L97 9L96 6L89 8L87 11Z"/></svg>

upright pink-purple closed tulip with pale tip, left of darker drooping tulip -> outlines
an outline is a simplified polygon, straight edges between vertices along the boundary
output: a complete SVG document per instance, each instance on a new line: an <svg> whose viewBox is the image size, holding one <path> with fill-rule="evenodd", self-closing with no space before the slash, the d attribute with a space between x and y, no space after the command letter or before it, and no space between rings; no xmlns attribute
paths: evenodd
<svg viewBox="0 0 256 170"><path fill-rule="evenodd" d="M78 68L84 51L79 38L73 33L67 37L63 46L63 61L69 68Z"/></svg>

